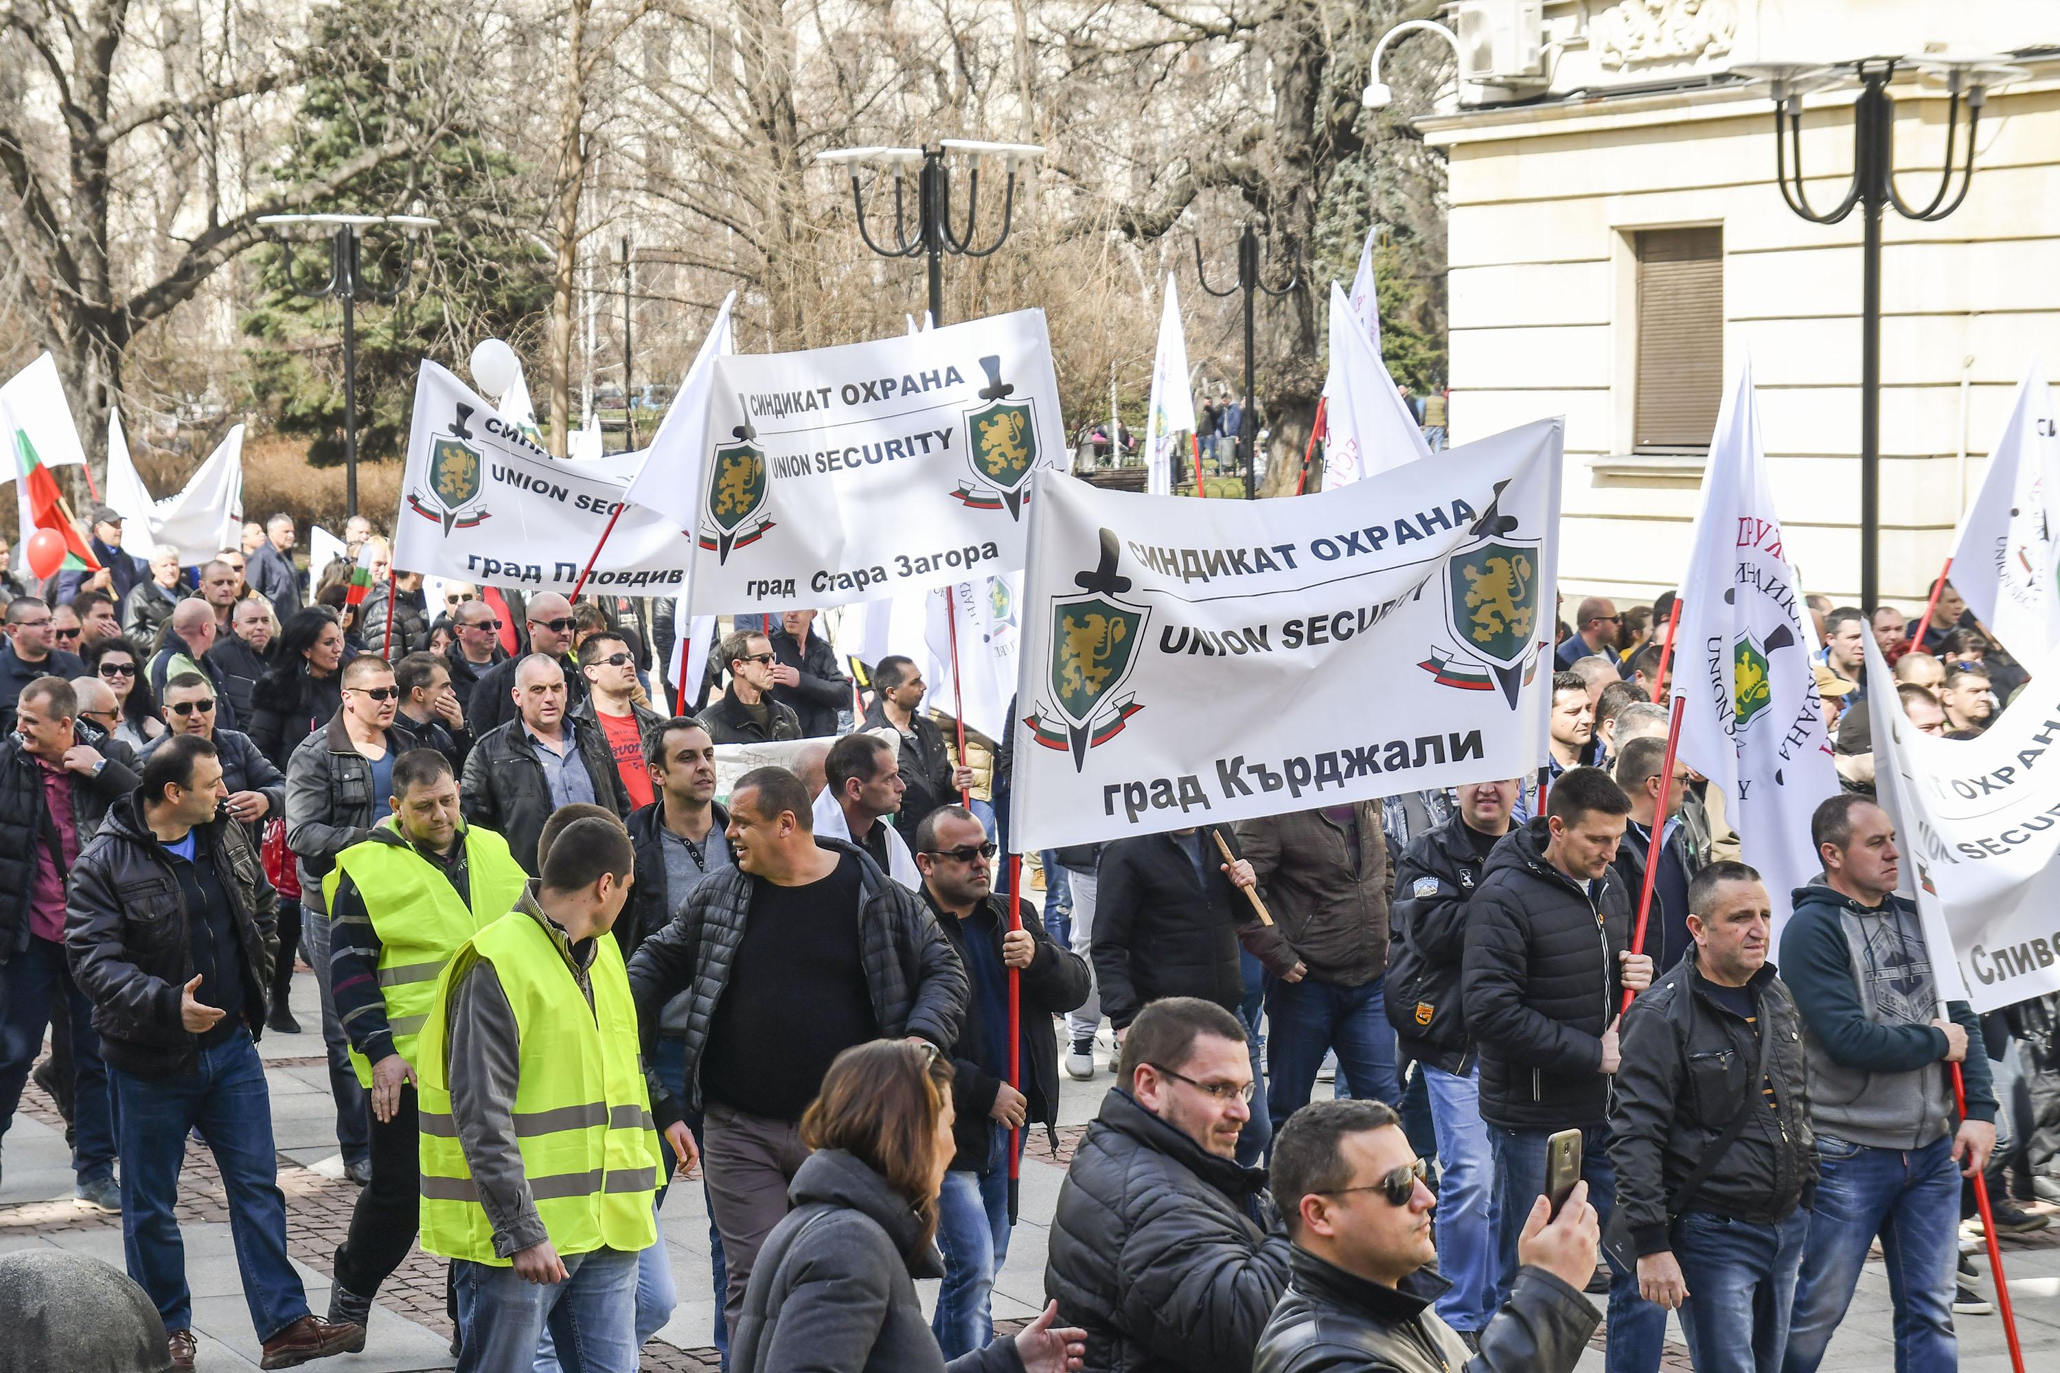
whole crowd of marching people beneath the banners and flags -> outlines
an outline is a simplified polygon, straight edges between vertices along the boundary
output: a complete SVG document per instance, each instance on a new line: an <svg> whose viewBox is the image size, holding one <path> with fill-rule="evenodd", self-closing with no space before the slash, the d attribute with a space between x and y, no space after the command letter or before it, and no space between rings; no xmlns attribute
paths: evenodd
<svg viewBox="0 0 2060 1373"><path fill-rule="evenodd" d="M0 1128L35 1072L173 1367L190 1134L268 1369L365 1348L416 1245L459 1369L634 1369L696 1175L742 1373L1572 1369L1588 1293L1613 1371L1677 1311L1704 1373L1809 1373L1877 1239L1897 1365L1934 1369L1988 1309L1963 1182L2002 1231L2060 1200L2056 998L1938 1013L1870 801L1870 688L1969 737L2023 683L1951 589L1920 626L1813 605L1846 790L1774 949L1722 795L1667 770L1667 597L1576 607L1535 778L1063 848L1011 908L1011 741L950 747L911 659L737 615L672 683L651 607L433 605L348 537L358 601L309 593L286 517L183 568L101 508L101 568L4 611ZM717 799L729 743L793 749ZM319 1315L255 1048L297 955L360 1188ZM997 1340L1061 1070L1110 1087L1046 1309Z"/></svg>

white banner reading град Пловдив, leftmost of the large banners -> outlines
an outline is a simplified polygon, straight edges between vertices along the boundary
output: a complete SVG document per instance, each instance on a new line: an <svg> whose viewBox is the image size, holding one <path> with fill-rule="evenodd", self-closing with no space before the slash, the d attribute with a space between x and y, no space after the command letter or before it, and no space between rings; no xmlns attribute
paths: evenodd
<svg viewBox="0 0 2060 1373"><path fill-rule="evenodd" d="M435 362L414 387L414 430L393 519L393 566L525 593L571 593L628 473L562 463ZM690 539L630 504L587 578L589 591L678 593Z"/></svg>

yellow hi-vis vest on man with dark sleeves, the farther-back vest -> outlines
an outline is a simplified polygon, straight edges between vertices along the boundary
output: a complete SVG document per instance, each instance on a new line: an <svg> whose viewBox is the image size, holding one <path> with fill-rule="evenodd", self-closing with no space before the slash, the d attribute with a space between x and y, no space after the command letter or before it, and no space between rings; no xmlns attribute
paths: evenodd
<svg viewBox="0 0 2060 1373"><path fill-rule="evenodd" d="M379 828L400 834L393 817ZM470 825L464 842L470 908L437 865L406 844L352 844L321 879L328 910L336 910L336 887L346 873L365 897L379 932L379 994L387 1005L387 1029L393 1031L393 1052L408 1062L416 1062L416 1035L428 1019L443 965L461 943L515 910L527 879L507 840L492 830ZM356 1048L350 1050L350 1066L358 1085L373 1085L373 1064Z"/></svg>

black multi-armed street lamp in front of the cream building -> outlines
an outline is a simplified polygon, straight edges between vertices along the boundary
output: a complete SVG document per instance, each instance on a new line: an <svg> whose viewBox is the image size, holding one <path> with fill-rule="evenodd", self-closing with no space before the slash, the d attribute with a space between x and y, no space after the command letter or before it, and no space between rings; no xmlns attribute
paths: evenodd
<svg viewBox="0 0 2060 1373"><path fill-rule="evenodd" d="M1838 66L1765 62L1735 72L1765 80L1774 95L1774 179L1782 200L1813 224L1838 224L1860 210L1860 605L1881 603L1881 220L1887 208L1916 222L1953 214L1973 185L1973 136L1988 93L2025 74L2002 58L1918 58L1916 66L1947 89L1945 159L1938 189L1914 206L1895 189L1895 101L1889 82L1901 58L1862 58ZM1852 179L1829 210L1815 210L1802 177L1802 97L1856 78L1852 105ZM1961 105L1967 107L1967 152L1955 169ZM1792 167L1790 167L1792 163ZM1955 179L1959 189L1953 189Z"/></svg>

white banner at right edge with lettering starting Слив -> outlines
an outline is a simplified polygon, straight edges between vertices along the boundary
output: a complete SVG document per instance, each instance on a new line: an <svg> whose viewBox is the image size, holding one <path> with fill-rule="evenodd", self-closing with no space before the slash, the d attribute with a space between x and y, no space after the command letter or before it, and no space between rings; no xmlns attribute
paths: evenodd
<svg viewBox="0 0 2060 1373"><path fill-rule="evenodd" d="M1873 636L1866 675L1889 679ZM1868 700L1901 891L1924 916L1941 994L1976 1011L2060 992L2060 805L2044 772L2056 766L2044 760L2060 741L2054 720L2060 650L1980 739L1918 733L1893 692Z"/></svg>

